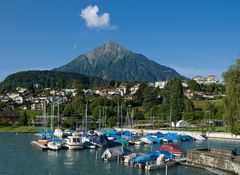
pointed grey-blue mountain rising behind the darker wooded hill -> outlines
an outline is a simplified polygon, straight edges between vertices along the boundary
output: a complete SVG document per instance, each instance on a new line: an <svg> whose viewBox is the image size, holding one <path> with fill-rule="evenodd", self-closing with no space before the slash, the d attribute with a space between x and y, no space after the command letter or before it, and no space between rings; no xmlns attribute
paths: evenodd
<svg viewBox="0 0 240 175"><path fill-rule="evenodd" d="M154 82L181 77L174 69L135 54L111 40L56 70L94 75L107 80Z"/></svg>

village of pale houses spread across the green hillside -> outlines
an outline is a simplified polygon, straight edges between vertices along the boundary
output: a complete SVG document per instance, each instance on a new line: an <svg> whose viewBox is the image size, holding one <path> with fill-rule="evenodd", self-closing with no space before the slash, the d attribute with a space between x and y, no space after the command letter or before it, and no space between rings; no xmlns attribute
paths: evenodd
<svg viewBox="0 0 240 175"><path fill-rule="evenodd" d="M212 92L204 92L201 90L193 90L188 87L190 80L183 80L182 86L184 89L184 95L189 99L201 99L201 100L214 100L224 96L222 92L216 90ZM196 76L191 81L197 83L197 85L223 85L223 82L219 82L214 75L208 77ZM156 81L155 83L148 83L148 87L154 87L163 89L167 85L168 81ZM129 86L128 83L119 83L117 87L92 87L83 89L82 93L86 96L104 97L112 99L115 96L120 96L125 100L133 99L133 96L137 93L142 83L132 83ZM58 104L68 104L77 95L78 90L75 88L42 88L40 84L34 84L32 89L24 87L17 87L15 90L6 91L0 94L0 122L7 125L18 125L20 114L18 111L39 111L44 110L44 104L51 104L53 101L57 101Z"/></svg>

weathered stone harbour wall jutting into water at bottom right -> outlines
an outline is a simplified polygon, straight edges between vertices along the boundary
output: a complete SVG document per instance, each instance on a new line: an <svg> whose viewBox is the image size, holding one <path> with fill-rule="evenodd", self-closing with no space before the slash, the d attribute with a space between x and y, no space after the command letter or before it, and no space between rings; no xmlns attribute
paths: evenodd
<svg viewBox="0 0 240 175"><path fill-rule="evenodd" d="M240 175L239 156L233 155L229 150L216 148L210 148L210 150L193 149L187 154L187 162L192 166L207 166Z"/></svg>

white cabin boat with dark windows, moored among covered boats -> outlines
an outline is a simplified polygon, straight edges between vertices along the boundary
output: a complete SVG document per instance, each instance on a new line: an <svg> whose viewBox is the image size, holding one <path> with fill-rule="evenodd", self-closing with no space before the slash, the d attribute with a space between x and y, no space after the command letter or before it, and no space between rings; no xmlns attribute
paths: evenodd
<svg viewBox="0 0 240 175"><path fill-rule="evenodd" d="M79 136L68 136L64 139L64 145L68 149L83 149L82 139Z"/></svg>

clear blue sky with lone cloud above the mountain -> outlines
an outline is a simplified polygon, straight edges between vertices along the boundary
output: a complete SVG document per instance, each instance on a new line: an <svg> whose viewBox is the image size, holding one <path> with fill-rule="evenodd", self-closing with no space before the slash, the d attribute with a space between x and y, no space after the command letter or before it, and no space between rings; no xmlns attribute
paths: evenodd
<svg viewBox="0 0 240 175"><path fill-rule="evenodd" d="M240 1L1 0L0 80L62 66L108 40L189 78L220 77L240 55Z"/></svg>

